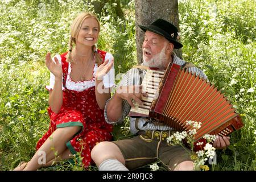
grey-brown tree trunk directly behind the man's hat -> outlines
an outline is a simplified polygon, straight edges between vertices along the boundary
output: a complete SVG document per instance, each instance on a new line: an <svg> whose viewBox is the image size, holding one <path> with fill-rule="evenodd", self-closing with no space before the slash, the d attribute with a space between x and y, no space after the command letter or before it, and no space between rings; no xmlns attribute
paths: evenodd
<svg viewBox="0 0 256 182"><path fill-rule="evenodd" d="M138 25L148 26L154 20L162 18L172 22L179 30L179 10L177 0L135 0L135 32L138 64L142 63L142 43L144 32ZM174 49L181 57L181 49Z"/></svg>

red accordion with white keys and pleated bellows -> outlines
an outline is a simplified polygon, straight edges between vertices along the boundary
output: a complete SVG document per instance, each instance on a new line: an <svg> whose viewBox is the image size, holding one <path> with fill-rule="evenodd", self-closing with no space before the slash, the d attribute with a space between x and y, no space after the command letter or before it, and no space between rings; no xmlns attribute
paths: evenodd
<svg viewBox="0 0 256 182"><path fill-rule="evenodd" d="M186 121L201 122L195 143L205 134L224 137L243 126L240 115L214 85L180 65L169 64L166 71L147 69L142 88L148 97L131 108L130 117L148 118L179 132L191 129Z"/></svg>

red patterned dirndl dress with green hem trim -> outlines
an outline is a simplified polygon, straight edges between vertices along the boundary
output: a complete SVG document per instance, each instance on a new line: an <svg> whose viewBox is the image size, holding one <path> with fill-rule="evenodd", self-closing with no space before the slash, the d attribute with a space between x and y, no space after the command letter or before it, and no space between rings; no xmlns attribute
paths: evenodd
<svg viewBox="0 0 256 182"><path fill-rule="evenodd" d="M98 54L105 60L106 52L98 50ZM92 164L90 151L102 141L112 140L113 126L105 122L104 110L101 110L96 101L95 86L85 89L82 92L69 90L65 87L68 74L68 63L65 61L67 52L61 55L63 69L63 105L59 113L53 113L48 107L50 126L46 134L39 139L36 150L38 150L53 131L57 128L68 126L81 126L82 130L74 138L66 143L71 154L80 152L82 164L87 168Z"/></svg>

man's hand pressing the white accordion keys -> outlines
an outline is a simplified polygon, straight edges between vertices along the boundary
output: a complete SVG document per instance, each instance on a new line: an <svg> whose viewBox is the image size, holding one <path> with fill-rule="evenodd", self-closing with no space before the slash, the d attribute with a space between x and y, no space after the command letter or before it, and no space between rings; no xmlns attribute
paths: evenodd
<svg viewBox="0 0 256 182"><path fill-rule="evenodd" d="M147 97L146 93L142 92L142 86L120 86L115 93L122 100L126 100L131 107L134 107L133 101L142 104L142 96Z"/></svg>

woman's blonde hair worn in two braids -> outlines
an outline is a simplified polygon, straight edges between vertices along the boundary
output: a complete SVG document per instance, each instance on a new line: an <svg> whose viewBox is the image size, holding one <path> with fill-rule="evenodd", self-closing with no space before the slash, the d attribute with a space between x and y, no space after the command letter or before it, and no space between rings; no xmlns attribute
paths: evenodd
<svg viewBox="0 0 256 182"><path fill-rule="evenodd" d="M76 44L76 39L77 39L77 36L81 29L82 22L84 22L84 20L86 18L94 18L98 22L98 31L100 32L100 21L94 14L84 12L84 13L81 13L78 16L76 16L76 18L73 20L72 25L71 25L71 35L70 35L69 42L68 42L68 53L66 56L67 62L70 62L70 63L72 62L71 52L73 49L73 44ZM100 65L102 63L102 59L101 59L100 55L98 55L95 45L92 46L92 51L95 55L96 64Z"/></svg>

